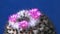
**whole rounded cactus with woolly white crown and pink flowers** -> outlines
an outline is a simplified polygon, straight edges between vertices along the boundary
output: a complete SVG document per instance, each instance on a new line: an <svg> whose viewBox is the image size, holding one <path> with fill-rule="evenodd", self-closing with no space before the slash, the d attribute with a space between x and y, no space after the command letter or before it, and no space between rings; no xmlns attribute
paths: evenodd
<svg viewBox="0 0 60 34"><path fill-rule="evenodd" d="M56 34L48 17L36 8L21 10L8 19L4 34Z"/></svg>

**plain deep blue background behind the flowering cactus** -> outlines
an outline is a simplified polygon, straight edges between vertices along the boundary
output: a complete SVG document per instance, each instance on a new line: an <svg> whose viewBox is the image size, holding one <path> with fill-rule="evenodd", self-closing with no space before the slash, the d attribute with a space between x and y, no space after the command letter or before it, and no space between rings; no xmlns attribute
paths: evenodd
<svg viewBox="0 0 60 34"><path fill-rule="evenodd" d="M10 14L21 9L38 8L46 14L60 34L60 5L58 0L0 0L0 34L4 32L4 26Z"/></svg>

